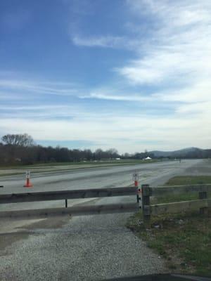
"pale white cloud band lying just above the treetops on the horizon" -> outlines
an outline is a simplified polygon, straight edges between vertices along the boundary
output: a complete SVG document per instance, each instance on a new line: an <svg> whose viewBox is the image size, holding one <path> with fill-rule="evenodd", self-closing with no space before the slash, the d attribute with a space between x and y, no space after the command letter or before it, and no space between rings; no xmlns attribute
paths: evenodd
<svg viewBox="0 0 211 281"><path fill-rule="evenodd" d="M200 133L198 133L200 128ZM211 141L211 120L205 116L148 117L134 115L118 117L92 115L68 120L1 119L0 131L30 133L35 140L94 141L102 148L114 145L121 152L151 149L176 149L190 145L207 148ZM55 133L56 132L56 133ZM155 141L155 144L152 144Z"/></svg>

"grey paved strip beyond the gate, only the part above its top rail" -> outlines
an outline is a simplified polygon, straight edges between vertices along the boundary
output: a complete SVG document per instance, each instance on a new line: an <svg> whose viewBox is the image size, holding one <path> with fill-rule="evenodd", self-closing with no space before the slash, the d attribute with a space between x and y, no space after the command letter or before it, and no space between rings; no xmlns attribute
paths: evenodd
<svg viewBox="0 0 211 281"><path fill-rule="evenodd" d="M139 164L130 166L111 166L104 168L81 169L77 171L50 172L49 174L32 174L33 190L66 190L72 188L101 188L132 183L132 174L137 171L141 181L150 178L160 178L169 174L177 174L179 171L193 166L201 160L183 160L181 163L155 162L151 164ZM23 184L24 176L1 177L0 182L5 185L1 193L25 192ZM29 189L28 189L29 190ZM1 194L0 193L0 194Z"/></svg>

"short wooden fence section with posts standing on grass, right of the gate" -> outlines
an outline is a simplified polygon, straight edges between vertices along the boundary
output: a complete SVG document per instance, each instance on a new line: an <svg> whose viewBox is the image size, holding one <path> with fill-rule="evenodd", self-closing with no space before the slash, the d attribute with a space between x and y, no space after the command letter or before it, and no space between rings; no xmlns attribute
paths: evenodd
<svg viewBox="0 0 211 281"><path fill-rule="evenodd" d="M160 214L176 214L183 211L199 210L200 214L208 214L211 208L211 198L208 198L208 192L211 192L209 185L176 185L171 187L150 187L141 185L142 208L144 221L150 221L151 216ZM172 202L165 204L151 204L151 197L165 197L167 195L179 195L181 193L190 194L198 192L198 200L188 200L181 202Z"/></svg>

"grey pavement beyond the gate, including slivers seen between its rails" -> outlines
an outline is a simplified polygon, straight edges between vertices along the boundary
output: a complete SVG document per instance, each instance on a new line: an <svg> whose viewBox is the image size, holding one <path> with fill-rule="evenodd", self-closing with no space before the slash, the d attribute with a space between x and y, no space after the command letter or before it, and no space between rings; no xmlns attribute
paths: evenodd
<svg viewBox="0 0 211 281"><path fill-rule="evenodd" d="M181 163L158 162L152 164L140 164L132 166L112 166L98 169L82 169L77 171L63 172L60 174L32 174L33 188L23 188L24 176L1 177L0 194L15 192L33 192L42 190L70 190L86 188L110 188L115 186L131 185L134 171L139 173L141 183L160 185L167 178L181 174L184 169L200 163L201 160L183 160ZM109 198L106 202L117 202L117 198ZM120 198L119 202L125 198ZM87 201L87 200L84 200ZM89 201L89 200L88 200ZM129 200L131 201L131 200ZM68 200L68 206L82 202L82 200ZM103 200L105 202L105 200ZM0 205L1 210L11 209L36 209L44 207L63 207L64 201L57 202L30 202L23 204Z"/></svg>

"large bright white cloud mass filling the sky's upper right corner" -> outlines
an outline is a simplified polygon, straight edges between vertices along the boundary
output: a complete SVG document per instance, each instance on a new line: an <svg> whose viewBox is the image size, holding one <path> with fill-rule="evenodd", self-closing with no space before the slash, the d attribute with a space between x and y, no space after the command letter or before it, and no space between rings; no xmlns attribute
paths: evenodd
<svg viewBox="0 0 211 281"><path fill-rule="evenodd" d="M139 58L117 71L134 84L200 81L211 74L210 1L127 1L136 16L146 13L156 24ZM145 53L143 56L141 53Z"/></svg>

